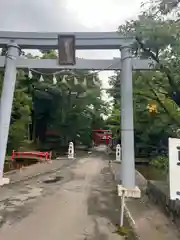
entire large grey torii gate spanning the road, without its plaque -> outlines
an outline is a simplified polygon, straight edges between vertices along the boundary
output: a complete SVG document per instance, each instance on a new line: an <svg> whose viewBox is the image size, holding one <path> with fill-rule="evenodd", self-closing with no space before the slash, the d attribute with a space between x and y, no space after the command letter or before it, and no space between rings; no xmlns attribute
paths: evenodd
<svg viewBox="0 0 180 240"><path fill-rule="evenodd" d="M77 59L72 65L59 65L57 60L25 59L19 57L21 49L57 49L58 36L74 36L76 49L119 49L121 59L85 60ZM0 105L0 180L3 168L11 118L13 94L16 82L16 69L86 69L121 70L121 179L125 189L135 190L135 154L133 125L132 70L154 68L152 60L132 59L131 46L134 37L121 36L117 32L78 32L78 33L33 33L0 32L0 47L7 47L7 55L0 57L0 67L5 67ZM130 195L133 195L130 194Z"/></svg>

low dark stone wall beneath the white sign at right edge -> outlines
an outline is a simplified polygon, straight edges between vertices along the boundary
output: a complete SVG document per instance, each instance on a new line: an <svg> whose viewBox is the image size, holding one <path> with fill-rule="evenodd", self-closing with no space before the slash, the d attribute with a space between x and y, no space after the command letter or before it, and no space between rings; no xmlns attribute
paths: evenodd
<svg viewBox="0 0 180 240"><path fill-rule="evenodd" d="M148 181L146 191L149 199L158 204L180 229L180 200L169 199L168 183Z"/></svg>

